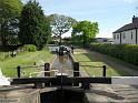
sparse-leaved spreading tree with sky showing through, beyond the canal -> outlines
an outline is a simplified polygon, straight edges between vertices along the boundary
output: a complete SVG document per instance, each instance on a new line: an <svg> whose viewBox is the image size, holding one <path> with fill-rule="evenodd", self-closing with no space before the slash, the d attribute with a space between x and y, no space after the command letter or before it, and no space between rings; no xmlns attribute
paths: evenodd
<svg viewBox="0 0 138 103"><path fill-rule="evenodd" d="M61 35L68 32L76 23L75 19L62 14L51 14L48 17L48 20L50 21L52 33L57 37L60 37L59 44L61 44Z"/></svg>

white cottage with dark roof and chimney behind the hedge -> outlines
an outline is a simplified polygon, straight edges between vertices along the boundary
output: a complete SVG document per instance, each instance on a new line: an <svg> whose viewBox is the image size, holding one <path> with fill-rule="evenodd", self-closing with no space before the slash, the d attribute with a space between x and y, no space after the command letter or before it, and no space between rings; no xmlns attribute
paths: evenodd
<svg viewBox="0 0 138 103"><path fill-rule="evenodd" d="M138 18L134 16L132 23L116 30L112 35L114 44L138 44Z"/></svg>

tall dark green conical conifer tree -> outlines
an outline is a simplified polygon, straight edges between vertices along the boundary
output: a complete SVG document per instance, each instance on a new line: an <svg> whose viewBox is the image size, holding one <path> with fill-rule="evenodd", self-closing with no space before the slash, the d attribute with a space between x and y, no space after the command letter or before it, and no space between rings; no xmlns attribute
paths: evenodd
<svg viewBox="0 0 138 103"><path fill-rule="evenodd" d="M50 25L39 2L30 0L21 12L19 40L22 44L34 44L42 49L50 34Z"/></svg>

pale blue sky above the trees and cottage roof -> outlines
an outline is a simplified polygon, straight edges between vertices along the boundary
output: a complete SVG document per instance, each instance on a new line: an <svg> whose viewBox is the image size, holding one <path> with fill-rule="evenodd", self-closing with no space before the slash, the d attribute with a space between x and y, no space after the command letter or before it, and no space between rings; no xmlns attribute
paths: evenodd
<svg viewBox="0 0 138 103"><path fill-rule="evenodd" d="M22 0L27 2L28 0ZM138 17L138 0L37 0L46 16L58 13L77 21L98 22L97 38L112 38L112 32ZM70 35L70 32L65 34Z"/></svg>

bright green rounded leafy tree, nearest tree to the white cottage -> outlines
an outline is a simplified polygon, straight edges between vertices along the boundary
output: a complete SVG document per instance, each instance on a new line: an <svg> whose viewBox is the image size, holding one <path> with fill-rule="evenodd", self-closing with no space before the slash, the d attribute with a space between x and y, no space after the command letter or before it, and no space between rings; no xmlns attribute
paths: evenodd
<svg viewBox="0 0 138 103"><path fill-rule="evenodd" d="M80 21L72 28L72 40L82 42L83 48L99 32L98 23L90 21Z"/></svg>

